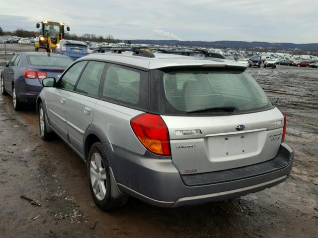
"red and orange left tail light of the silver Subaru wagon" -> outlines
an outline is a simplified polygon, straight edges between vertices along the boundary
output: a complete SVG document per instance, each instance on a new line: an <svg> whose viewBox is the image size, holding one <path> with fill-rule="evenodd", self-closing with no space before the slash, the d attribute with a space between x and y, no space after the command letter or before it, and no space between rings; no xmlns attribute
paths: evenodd
<svg viewBox="0 0 318 238"><path fill-rule="evenodd" d="M171 155L168 129L160 116L144 113L131 119L130 125L147 150L157 155Z"/></svg>

